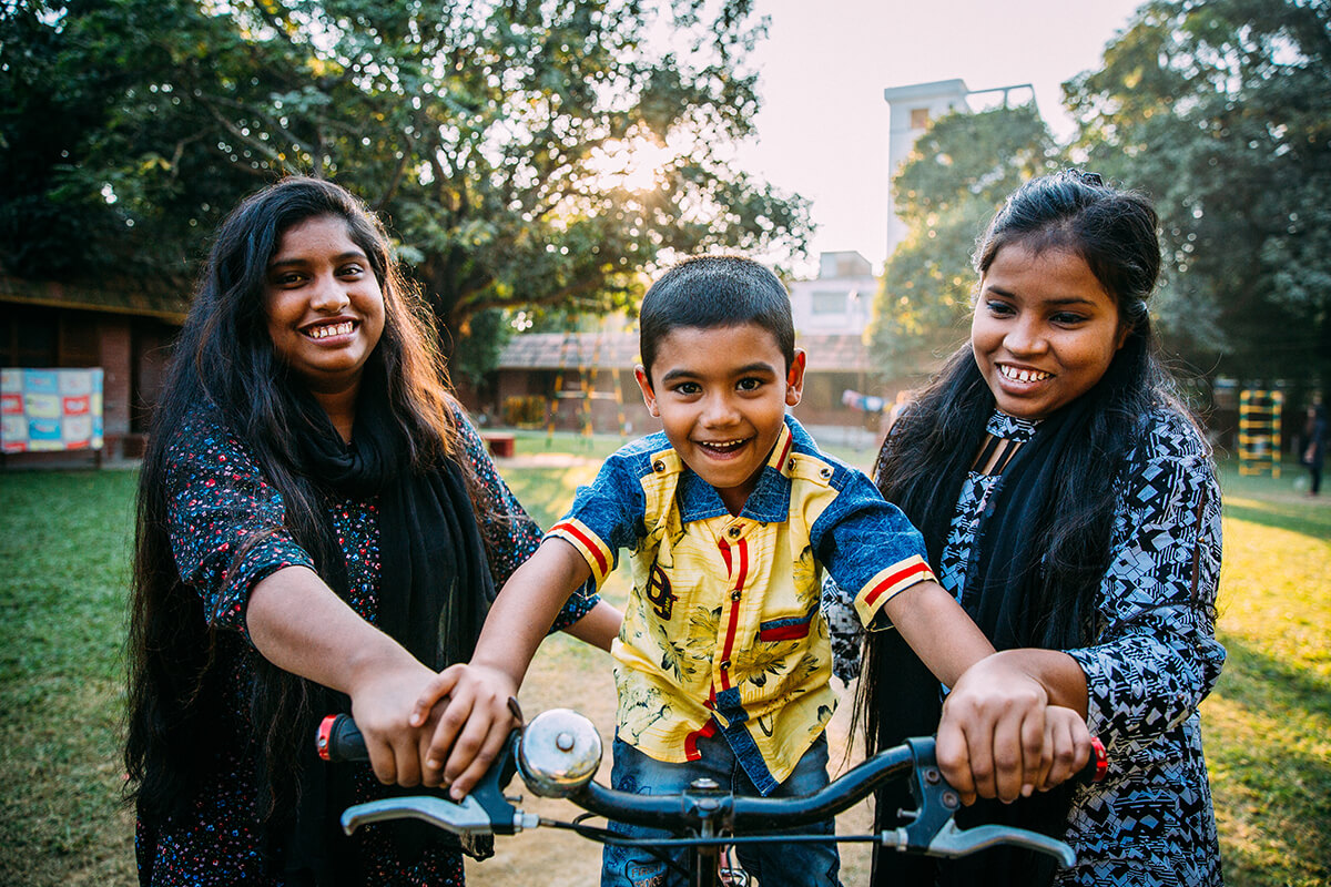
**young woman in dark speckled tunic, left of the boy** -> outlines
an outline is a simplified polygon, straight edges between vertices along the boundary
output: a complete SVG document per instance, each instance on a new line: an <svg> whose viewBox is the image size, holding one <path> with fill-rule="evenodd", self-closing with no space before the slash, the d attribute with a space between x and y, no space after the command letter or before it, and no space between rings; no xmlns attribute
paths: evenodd
<svg viewBox="0 0 1331 887"><path fill-rule="evenodd" d="M447 388L378 219L287 178L222 223L138 488L125 758L144 884L461 884L419 824L337 815L422 782L411 703L540 541ZM614 608L558 626L608 649ZM371 766L314 759L350 710ZM371 770L373 767L373 770Z"/></svg>

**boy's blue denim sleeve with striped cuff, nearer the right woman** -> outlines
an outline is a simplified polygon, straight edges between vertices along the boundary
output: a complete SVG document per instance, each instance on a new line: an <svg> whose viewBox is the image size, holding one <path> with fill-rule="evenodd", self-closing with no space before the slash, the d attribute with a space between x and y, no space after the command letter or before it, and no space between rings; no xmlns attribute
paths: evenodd
<svg viewBox="0 0 1331 887"><path fill-rule="evenodd" d="M882 605L934 578L924 537L864 473L839 465L832 484L837 497L813 523L813 551L860 622L869 630L890 628Z"/></svg>

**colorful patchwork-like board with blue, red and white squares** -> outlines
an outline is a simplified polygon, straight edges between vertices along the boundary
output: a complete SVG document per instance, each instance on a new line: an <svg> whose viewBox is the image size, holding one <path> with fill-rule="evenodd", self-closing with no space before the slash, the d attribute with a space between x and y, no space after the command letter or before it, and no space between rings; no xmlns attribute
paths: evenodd
<svg viewBox="0 0 1331 887"><path fill-rule="evenodd" d="M100 367L0 370L0 451L101 449Z"/></svg>

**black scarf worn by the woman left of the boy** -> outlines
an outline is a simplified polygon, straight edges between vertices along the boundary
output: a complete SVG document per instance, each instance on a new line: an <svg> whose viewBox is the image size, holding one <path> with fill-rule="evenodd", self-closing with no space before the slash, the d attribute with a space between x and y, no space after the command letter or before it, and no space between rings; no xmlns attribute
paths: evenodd
<svg viewBox="0 0 1331 887"><path fill-rule="evenodd" d="M383 387L366 379L362 392L367 390ZM305 426L297 432L294 453L311 484L329 501L379 496L378 628L434 670L469 660L495 588L462 468L447 459L434 471L411 471L407 443L382 395L361 398L350 447L313 399L302 403L302 415ZM346 598L345 555L326 513L319 517L315 560L321 577ZM310 698L325 707L310 713L301 735L313 737L314 723L326 713L350 711L342 694L318 688ZM355 771L365 765L327 765L314 754L313 741L299 754L299 802L295 817L270 834L274 855L282 858L293 884L365 883L351 842L337 824L341 811L353 803ZM405 855L450 843L443 832L418 822L374 828L393 831Z"/></svg>

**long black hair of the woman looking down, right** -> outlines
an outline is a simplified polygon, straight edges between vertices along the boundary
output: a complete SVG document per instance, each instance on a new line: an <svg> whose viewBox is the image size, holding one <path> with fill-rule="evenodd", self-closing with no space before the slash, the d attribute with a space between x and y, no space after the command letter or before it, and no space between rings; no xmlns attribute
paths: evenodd
<svg viewBox="0 0 1331 887"><path fill-rule="evenodd" d="M1058 453L1049 484L1051 501L1028 528L1030 569L1020 572L1030 577L1025 641L1033 646L1069 649L1099 632L1095 597L1109 567L1115 481L1151 410L1189 415L1161 362L1147 313L1161 266L1155 229L1155 210L1143 195L1063 170L1014 191L977 245L981 278L1010 245L1081 257L1114 298L1119 328L1127 331L1105 375L1082 395L1074 443ZM920 528L933 564L946 545L961 484L993 410L994 396L972 347L962 346L892 427L878 453L878 488ZM870 634L857 701L870 747L896 730L890 703L900 676L890 673L896 665L884 650L884 640Z"/></svg>

